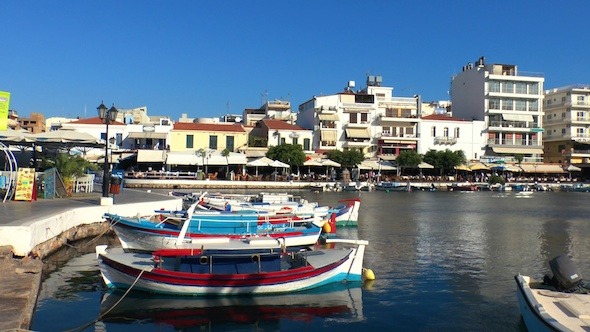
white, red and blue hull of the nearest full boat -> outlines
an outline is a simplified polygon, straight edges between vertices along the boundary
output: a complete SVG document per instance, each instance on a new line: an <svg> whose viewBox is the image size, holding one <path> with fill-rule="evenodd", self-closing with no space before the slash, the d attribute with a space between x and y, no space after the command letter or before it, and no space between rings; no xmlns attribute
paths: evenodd
<svg viewBox="0 0 590 332"><path fill-rule="evenodd" d="M151 254L128 253L97 247L100 272L108 287L133 288L158 294L184 296L280 294L317 288L335 282L362 281L366 241L354 248L305 252L306 264L280 270L237 273L189 273L156 267ZM211 256L211 261L215 257ZM260 256L259 256L260 257ZM164 258L175 259L175 258ZM260 258L258 258L260 261ZM283 260L289 259L283 255ZM300 258L297 258L300 259ZM211 263L213 264L213 263ZM207 266L201 267L206 269ZM210 267L210 270L215 265ZM260 267L259 267L260 269ZM191 270L192 271L192 270Z"/></svg>

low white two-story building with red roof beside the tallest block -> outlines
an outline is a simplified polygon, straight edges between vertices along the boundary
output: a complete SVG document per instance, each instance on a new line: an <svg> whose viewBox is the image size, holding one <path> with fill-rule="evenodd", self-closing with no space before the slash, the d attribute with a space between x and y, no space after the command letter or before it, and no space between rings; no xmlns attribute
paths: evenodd
<svg viewBox="0 0 590 332"><path fill-rule="evenodd" d="M423 116L418 122L418 153L463 150L467 160L477 160L487 143L484 127L483 120L462 120L440 114Z"/></svg>

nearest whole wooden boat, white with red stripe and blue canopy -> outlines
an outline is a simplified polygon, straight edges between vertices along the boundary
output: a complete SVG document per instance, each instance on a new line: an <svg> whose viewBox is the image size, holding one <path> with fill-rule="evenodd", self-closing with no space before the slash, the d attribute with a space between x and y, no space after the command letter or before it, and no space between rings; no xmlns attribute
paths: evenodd
<svg viewBox="0 0 590 332"><path fill-rule="evenodd" d="M160 294L280 294L362 281L368 241L326 241L349 246L296 252L161 249L142 254L102 245L96 247L96 252L100 273L108 287Z"/></svg>

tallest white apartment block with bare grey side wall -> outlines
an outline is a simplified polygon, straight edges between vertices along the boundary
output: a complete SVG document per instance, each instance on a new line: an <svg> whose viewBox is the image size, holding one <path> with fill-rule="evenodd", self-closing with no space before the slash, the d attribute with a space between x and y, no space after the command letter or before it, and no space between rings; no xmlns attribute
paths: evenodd
<svg viewBox="0 0 590 332"><path fill-rule="evenodd" d="M543 157L543 83L516 65L468 63L451 80L453 116L483 120L484 159L540 162Z"/></svg>

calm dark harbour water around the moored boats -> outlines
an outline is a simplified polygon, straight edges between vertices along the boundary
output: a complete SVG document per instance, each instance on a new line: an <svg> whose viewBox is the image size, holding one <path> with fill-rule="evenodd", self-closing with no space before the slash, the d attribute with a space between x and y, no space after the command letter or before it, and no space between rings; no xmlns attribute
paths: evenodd
<svg viewBox="0 0 590 332"><path fill-rule="evenodd" d="M339 286L256 303L135 294L93 323L105 290L94 256L78 254L52 262L57 270L43 282L31 328L519 331L525 327L516 303L516 273L540 277L549 272L548 260L566 253L590 276L587 193L536 192L526 198L495 192L298 193L330 205L361 197L360 226L338 233L370 241L365 266L377 280L362 288ZM116 302L116 295L105 301Z"/></svg>

